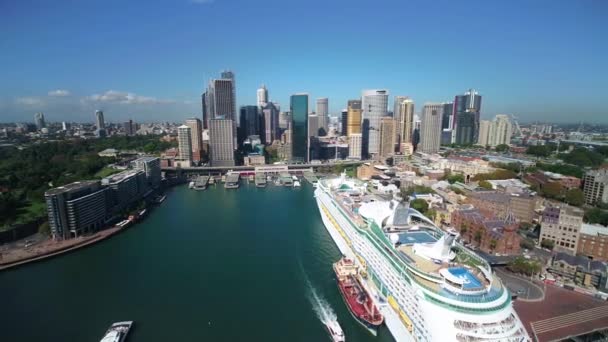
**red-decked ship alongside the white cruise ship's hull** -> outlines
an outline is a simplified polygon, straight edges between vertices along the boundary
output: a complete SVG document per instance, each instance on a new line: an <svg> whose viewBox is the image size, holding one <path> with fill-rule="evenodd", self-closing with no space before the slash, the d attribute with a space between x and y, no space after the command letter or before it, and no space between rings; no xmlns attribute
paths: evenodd
<svg viewBox="0 0 608 342"><path fill-rule="evenodd" d="M377 328L384 321L384 317L359 281L357 266L353 260L342 258L334 263L334 272L340 293L351 314L372 334L376 335Z"/></svg>

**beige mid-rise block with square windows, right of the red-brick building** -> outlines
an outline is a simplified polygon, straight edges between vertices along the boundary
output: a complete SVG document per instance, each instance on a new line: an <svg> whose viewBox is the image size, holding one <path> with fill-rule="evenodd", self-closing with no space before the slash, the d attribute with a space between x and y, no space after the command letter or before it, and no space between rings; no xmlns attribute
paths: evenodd
<svg viewBox="0 0 608 342"><path fill-rule="evenodd" d="M569 205L547 205L540 225L540 239L553 242L555 251L576 254L584 211Z"/></svg>

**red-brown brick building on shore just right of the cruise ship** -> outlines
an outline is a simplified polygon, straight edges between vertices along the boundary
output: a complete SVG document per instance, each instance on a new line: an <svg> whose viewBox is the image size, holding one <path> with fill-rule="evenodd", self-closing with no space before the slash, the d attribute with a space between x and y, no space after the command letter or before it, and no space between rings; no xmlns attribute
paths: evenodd
<svg viewBox="0 0 608 342"><path fill-rule="evenodd" d="M486 253L520 253L521 237L517 234L518 224L512 214L506 219L497 219L484 216L475 208L460 209L452 213L451 223L460 232L462 240Z"/></svg>

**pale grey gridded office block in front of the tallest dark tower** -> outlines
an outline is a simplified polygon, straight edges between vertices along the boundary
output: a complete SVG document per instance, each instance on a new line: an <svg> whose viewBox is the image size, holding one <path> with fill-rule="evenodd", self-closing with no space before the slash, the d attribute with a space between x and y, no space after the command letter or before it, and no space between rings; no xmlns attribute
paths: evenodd
<svg viewBox="0 0 608 342"><path fill-rule="evenodd" d="M211 166L234 166L234 139L230 119L209 120Z"/></svg>

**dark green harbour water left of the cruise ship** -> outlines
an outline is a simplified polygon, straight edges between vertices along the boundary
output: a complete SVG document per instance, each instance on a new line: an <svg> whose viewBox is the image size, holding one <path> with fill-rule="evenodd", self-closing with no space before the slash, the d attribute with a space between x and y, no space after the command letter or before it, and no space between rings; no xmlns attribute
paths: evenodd
<svg viewBox="0 0 608 342"><path fill-rule="evenodd" d="M180 186L107 241L0 273L0 341L98 341L123 320L129 342L329 341L328 312L347 341L392 341L348 312L339 257L309 184Z"/></svg>

